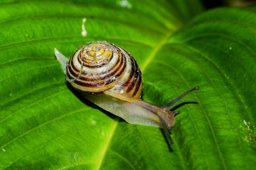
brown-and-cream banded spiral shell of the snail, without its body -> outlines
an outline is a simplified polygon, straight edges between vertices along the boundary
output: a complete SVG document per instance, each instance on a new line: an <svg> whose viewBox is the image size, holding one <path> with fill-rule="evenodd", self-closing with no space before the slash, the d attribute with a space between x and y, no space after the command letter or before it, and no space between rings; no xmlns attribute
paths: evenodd
<svg viewBox="0 0 256 170"><path fill-rule="evenodd" d="M108 42L92 42L74 52L67 81L86 93L105 93L126 101L141 100L143 79L136 60Z"/></svg>

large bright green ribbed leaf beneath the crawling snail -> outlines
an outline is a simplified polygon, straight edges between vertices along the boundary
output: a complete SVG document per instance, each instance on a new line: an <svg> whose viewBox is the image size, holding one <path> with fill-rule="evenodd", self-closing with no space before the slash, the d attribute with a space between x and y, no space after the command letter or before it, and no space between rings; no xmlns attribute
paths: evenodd
<svg viewBox="0 0 256 170"><path fill-rule="evenodd" d="M255 167L256 7L201 12L198 1L1 1L0 169ZM54 47L68 56L97 40L136 58L143 100L200 86L175 107L173 152L159 128L68 87Z"/></svg>

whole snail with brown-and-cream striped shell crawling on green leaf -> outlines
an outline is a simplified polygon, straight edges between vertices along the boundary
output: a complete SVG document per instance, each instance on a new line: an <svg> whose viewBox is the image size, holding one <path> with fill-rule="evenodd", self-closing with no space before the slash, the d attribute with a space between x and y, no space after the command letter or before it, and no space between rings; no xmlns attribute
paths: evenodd
<svg viewBox="0 0 256 170"><path fill-rule="evenodd" d="M163 128L168 143L173 143L170 134L175 125L174 116L179 111L170 109L198 87L160 107L141 100L141 71L136 60L125 49L108 42L88 42L88 45L77 47L70 59L57 49L54 52L67 81L84 98L127 123Z"/></svg>

